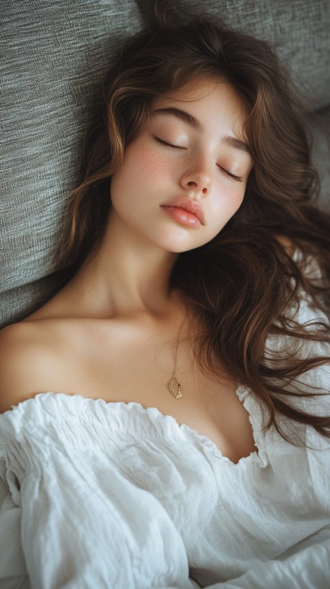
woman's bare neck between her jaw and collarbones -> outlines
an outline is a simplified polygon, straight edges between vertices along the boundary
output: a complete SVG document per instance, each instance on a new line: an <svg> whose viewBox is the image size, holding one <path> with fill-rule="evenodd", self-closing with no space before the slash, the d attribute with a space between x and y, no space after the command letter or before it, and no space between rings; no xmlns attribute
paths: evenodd
<svg viewBox="0 0 330 589"><path fill-rule="evenodd" d="M103 316L164 314L175 298L169 280L177 255L130 232L118 219L110 220L100 246L72 282L80 300L98 307Z"/></svg>

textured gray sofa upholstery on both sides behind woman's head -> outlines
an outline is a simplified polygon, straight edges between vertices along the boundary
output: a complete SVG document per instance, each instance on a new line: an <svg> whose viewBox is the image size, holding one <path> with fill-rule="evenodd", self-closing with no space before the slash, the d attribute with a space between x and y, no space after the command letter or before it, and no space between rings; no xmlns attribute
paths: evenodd
<svg viewBox="0 0 330 589"><path fill-rule="evenodd" d="M172 2L173 4L173 2ZM148 16L148 0L4 0L0 56L1 324L23 318L61 287L52 254L77 184L100 80L122 38ZM330 4L327 0L178 0L208 9L273 43L311 110L314 155L329 205ZM320 121L322 122L320 125ZM328 151L325 151L325 150Z"/></svg>

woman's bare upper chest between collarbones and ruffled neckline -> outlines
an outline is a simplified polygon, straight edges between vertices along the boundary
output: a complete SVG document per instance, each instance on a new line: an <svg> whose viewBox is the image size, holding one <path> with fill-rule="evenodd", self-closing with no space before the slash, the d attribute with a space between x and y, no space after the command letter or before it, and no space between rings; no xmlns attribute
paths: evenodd
<svg viewBox="0 0 330 589"><path fill-rule="evenodd" d="M236 394L236 381L225 373L221 379L204 374L184 342L176 346L166 334L140 331L132 335L124 329L110 337L99 333L88 342L83 348L77 342L72 349L67 373L61 370L67 377L58 390L157 408L179 425L186 424L208 437L234 463L256 450L249 414ZM174 373L181 384L179 399L169 388Z"/></svg>

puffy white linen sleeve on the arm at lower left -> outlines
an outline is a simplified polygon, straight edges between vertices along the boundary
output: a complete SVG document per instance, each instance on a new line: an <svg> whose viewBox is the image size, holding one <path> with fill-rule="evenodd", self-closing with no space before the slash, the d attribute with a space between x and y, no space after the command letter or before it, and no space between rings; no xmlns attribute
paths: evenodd
<svg viewBox="0 0 330 589"><path fill-rule="evenodd" d="M36 446L25 431L24 445L5 446L0 545L11 548L1 589L21 589L26 573L34 589L199 587L189 579L181 536L151 493L102 453L41 437Z"/></svg>

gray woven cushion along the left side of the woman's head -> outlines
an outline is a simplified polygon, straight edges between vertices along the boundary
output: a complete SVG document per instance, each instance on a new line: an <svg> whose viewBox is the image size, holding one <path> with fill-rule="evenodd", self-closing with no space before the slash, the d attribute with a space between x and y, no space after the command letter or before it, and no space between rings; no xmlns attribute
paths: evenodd
<svg viewBox="0 0 330 589"><path fill-rule="evenodd" d="M43 277L54 271L98 82L141 18L133 0L8 0L1 21L0 307L7 324L61 284Z"/></svg>

